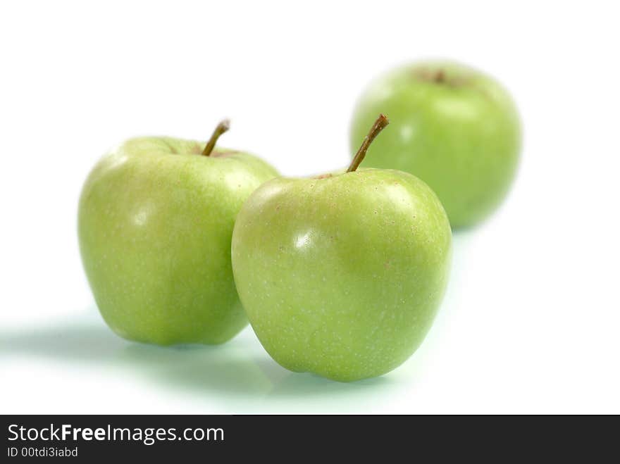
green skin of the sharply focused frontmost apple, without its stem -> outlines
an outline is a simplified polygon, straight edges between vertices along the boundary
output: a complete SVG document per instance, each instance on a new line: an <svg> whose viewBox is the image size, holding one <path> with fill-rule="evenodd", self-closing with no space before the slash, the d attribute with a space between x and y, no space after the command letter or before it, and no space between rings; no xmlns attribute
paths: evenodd
<svg viewBox="0 0 620 464"><path fill-rule="evenodd" d="M396 170L275 179L233 231L254 332L285 368L376 377L418 348L444 294L452 232L437 196Z"/></svg>

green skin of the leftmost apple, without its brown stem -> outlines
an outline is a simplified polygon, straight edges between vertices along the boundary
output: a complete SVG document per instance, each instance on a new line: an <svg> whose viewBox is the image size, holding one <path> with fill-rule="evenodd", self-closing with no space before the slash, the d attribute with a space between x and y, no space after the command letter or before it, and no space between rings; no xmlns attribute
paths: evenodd
<svg viewBox="0 0 620 464"><path fill-rule="evenodd" d="M204 143L144 137L94 167L78 235L101 315L126 339L218 344L247 325L230 263L235 218L275 177L264 161Z"/></svg>

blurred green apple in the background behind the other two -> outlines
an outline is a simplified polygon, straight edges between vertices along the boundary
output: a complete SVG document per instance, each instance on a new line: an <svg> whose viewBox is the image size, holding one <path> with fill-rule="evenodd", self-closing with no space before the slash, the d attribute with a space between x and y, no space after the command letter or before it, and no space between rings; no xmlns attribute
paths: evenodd
<svg viewBox="0 0 620 464"><path fill-rule="evenodd" d="M362 166L419 177L442 201L453 228L476 225L502 203L519 163L521 123L497 81L447 61L392 70L356 106L352 153L378 113L390 117L390 130Z"/></svg>

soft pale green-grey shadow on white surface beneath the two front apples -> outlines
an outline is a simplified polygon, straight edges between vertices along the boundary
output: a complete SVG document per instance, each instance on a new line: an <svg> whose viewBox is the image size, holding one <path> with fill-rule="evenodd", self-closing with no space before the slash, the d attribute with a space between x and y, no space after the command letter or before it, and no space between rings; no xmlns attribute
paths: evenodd
<svg viewBox="0 0 620 464"><path fill-rule="evenodd" d="M289 372L268 356L251 332L218 346L161 347L120 339L92 315L29 330L1 331L0 358L24 362L49 358L88 369L130 370L156 387L229 399L334 396L390 384L386 377L344 384Z"/></svg>

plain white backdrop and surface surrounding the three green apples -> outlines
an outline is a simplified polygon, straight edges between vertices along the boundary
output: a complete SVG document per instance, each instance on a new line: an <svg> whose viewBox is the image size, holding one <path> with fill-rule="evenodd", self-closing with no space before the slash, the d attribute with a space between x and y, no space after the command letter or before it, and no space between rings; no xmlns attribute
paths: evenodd
<svg viewBox="0 0 620 464"><path fill-rule="evenodd" d="M0 413L620 413L619 12L609 2L3 1ZM206 138L285 175L347 163L377 73L448 57L498 77L525 127L493 218L455 234L421 349L340 384L280 368L250 328L157 348L101 321L77 250L97 158Z"/></svg>

